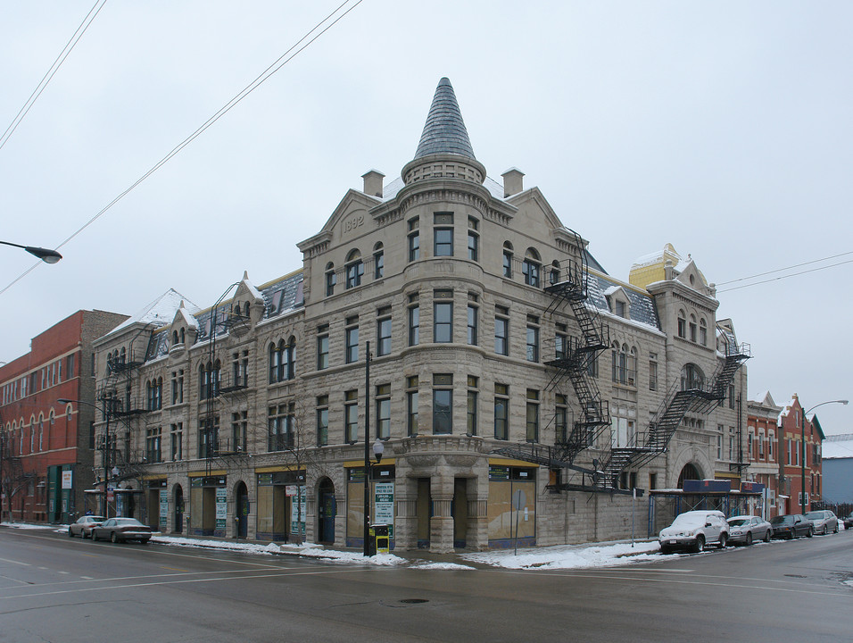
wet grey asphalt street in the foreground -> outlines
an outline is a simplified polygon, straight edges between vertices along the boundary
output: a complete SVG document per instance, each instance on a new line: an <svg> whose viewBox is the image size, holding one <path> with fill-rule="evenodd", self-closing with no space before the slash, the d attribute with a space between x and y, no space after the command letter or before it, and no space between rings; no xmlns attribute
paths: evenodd
<svg viewBox="0 0 853 643"><path fill-rule="evenodd" d="M853 530L590 570L329 564L0 528L0 641L849 640Z"/></svg>

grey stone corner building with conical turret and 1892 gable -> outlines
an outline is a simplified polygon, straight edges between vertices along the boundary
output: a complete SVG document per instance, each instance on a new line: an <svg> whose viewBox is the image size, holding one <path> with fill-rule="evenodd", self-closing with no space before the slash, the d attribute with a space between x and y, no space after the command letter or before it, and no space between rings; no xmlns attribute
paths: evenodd
<svg viewBox="0 0 853 643"><path fill-rule="evenodd" d="M746 355L713 285L671 246L611 278L523 177L486 176L442 79L402 177L364 174L301 270L101 338L117 510L360 547L366 424L369 520L402 549L625 538L632 510L655 529L631 489L736 487Z"/></svg>

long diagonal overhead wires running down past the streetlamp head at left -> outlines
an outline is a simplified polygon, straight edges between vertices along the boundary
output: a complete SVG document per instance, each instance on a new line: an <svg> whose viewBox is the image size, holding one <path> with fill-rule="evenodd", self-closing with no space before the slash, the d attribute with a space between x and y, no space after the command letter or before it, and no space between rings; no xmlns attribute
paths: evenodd
<svg viewBox="0 0 853 643"><path fill-rule="evenodd" d="M324 33L326 33L328 31L328 29L331 29L332 27L334 27L338 21L341 21L344 18L344 16L346 16L353 9L355 9L359 4L361 4L363 2L363 0L356 0L356 2L354 4L352 4L352 6L350 6L348 9L346 9L346 11L341 13L341 10L344 8L344 6L346 6L347 4L350 4L350 2L352 2L352 0L344 0L344 2L342 4L339 4L332 13L329 13L326 16L326 18L319 21L312 29L310 29L304 36L302 36L302 38L300 38L298 41L296 41L294 46L291 46L284 54L281 54L278 57L278 59L276 60L276 62L269 65L269 67L267 67L267 69L264 70L260 76L258 76L251 83L249 83L245 88L243 88L243 90L240 91L238 94L236 94L236 96L234 96L231 100L229 100L228 103L226 103L221 108L219 108L219 111L217 113L214 113L211 116L211 118L209 118L207 121L204 121L204 123L202 124L201 127L196 129L192 134L190 134L183 141L178 143L177 146L172 148L172 150L170 151L169 154L166 154L165 156L163 156L161 158L160 161L158 161L157 163L154 163L154 165L152 166L152 168L150 170L146 171L145 174L143 174L139 179L137 179L129 188L127 188L123 192L121 192L119 196L116 196L114 199L112 199L112 201L110 203L108 203L107 205L104 205L104 207L98 213L96 213L95 216L93 216L91 219L86 221L86 223L84 223L82 226L80 226L79 229L75 230L73 234L71 234L68 238L66 238L64 241L62 241L62 243L59 246L56 246L56 248L54 248L54 249L58 250L62 246L65 246L71 239L77 237L83 230L86 230L90 225L92 225L95 221L97 221L99 218L101 218L101 216L104 215L105 213L107 213L112 208L113 205L116 205L117 203L119 203L119 201L122 198L124 198L125 196L128 196L128 194L134 188L137 188L137 186L140 183L142 183L145 179L150 177L155 171L158 171L163 165L168 163L170 161L170 159L173 156L175 156L175 154L178 154L178 152L180 152L182 149L184 149L186 146L188 146L190 143L192 143L195 140L195 138L198 138L199 136L201 136L201 134L204 132L205 129L208 129L209 127L211 127L211 125L213 123L215 123L216 121L219 121L219 119L222 118L222 116L224 116L226 113L228 113L232 107L234 107L236 104L238 104L240 101L242 101L246 96L251 94L255 89L259 88L264 81L269 79L270 76L275 74L278 70L280 70L282 67L284 67L287 63L292 61L297 55L301 54L302 51L304 51L306 47L311 46L311 43L313 43L315 40L317 40L317 38L319 38ZM340 13L340 14L337 15L338 13ZM334 20L333 20L333 18L334 18ZM26 277L31 271L34 271L38 267L39 263L41 263L41 262L34 263L26 271L21 272L21 274L18 275L14 280L12 280L11 283L9 283L2 290L0 290L0 295L3 295L4 292L6 292L6 290L8 290L9 288L12 288L12 286L14 286L16 283L18 283L24 277Z"/></svg>

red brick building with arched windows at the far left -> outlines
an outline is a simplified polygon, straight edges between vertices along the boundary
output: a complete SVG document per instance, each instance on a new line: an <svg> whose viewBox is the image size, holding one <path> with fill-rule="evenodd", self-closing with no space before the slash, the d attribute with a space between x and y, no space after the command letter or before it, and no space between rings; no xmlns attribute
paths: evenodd
<svg viewBox="0 0 853 643"><path fill-rule="evenodd" d="M0 515L67 522L87 508L94 483L92 342L126 315L78 311L0 366ZM60 398L84 404L62 405Z"/></svg>

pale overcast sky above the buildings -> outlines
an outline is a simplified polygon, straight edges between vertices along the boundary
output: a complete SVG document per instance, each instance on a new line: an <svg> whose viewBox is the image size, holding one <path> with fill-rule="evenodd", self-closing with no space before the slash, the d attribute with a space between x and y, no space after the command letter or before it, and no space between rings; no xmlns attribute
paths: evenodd
<svg viewBox="0 0 853 643"><path fill-rule="evenodd" d="M340 1L107 2L0 149L0 240L61 244ZM3 4L0 131L93 4ZM612 276L671 243L720 284L750 398L853 397L851 24L849 0L363 0L0 295L0 361L79 309L301 268L361 174L399 176L447 76L489 175L524 171ZM30 259L0 246L0 288ZM853 405L818 416L853 432Z"/></svg>

